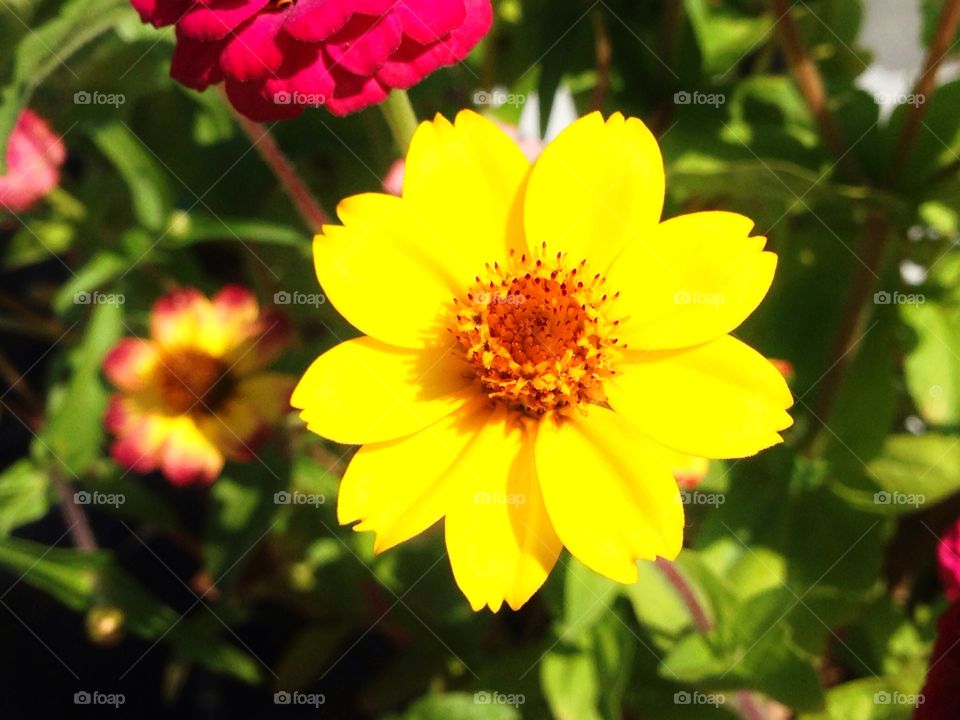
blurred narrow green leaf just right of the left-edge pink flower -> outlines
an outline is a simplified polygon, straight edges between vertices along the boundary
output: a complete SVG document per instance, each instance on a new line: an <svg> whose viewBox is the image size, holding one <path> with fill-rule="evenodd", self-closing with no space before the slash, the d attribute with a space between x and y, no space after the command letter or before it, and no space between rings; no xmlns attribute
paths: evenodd
<svg viewBox="0 0 960 720"><path fill-rule="evenodd" d="M173 192L157 158L119 120L97 127L91 137L127 183L137 220L150 230L163 228L173 210Z"/></svg>

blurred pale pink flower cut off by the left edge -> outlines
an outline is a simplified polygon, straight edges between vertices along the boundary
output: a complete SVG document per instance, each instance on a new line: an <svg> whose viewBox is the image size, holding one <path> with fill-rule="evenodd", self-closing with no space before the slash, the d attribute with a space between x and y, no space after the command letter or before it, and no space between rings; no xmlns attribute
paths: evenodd
<svg viewBox="0 0 960 720"><path fill-rule="evenodd" d="M63 141L32 110L24 110L7 145L7 174L0 176L0 207L22 213L60 182Z"/></svg>

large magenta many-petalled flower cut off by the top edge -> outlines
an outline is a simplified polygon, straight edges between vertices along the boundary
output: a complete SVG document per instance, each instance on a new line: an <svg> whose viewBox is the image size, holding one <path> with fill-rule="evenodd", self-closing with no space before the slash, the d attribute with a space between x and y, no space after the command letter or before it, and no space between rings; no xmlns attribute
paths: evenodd
<svg viewBox="0 0 960 720"><path fill-rule="evenodd" d="M196 90L224 82L257 121L379 103L463 60L493 18L490 0L131 2L144 22L176 25L176 80Z"/></svg>

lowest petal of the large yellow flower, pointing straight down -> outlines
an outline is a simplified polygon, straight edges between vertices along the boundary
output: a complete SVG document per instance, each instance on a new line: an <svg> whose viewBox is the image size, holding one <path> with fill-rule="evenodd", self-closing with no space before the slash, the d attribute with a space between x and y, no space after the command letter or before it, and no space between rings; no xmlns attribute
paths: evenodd
<svg viewBox="0 0 960 720"><path fill-rule="evenodd" d="M533 437L501 410L458 462L468 488L447 513L447 552L457 585L474 610L514 610L544 581L561 543L547 516Z"/></svg>

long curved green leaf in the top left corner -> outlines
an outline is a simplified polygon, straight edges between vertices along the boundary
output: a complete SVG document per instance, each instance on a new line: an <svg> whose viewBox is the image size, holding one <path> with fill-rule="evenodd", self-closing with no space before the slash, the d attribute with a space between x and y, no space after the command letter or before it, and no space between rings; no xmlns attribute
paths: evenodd
<svg viewBox="0 0 960 720"><path fill-rule="evenodd" d="M13 77L0 89L0 175L7 171L10 133L33 91L61 67L76 77L67 61L130 12L127 0L69 0L54 17L23 35L14 55Z"/></svg>

